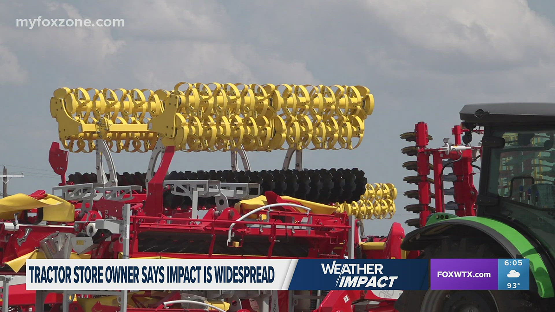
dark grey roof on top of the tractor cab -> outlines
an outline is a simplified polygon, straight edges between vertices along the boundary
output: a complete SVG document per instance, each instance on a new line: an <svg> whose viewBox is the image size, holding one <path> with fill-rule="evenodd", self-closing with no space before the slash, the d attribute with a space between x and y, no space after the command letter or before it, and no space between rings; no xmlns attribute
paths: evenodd
<svg viewBox="0 0 555 312"><path fill-rule="evenodd" d="M555 103L467 104L461 120L478 125L555 124Z"/></svg>

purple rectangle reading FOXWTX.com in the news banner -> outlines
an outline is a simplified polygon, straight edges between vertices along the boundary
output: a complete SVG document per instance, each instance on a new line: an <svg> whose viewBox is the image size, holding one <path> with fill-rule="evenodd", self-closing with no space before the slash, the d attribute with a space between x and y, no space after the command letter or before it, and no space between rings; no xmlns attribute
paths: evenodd
<svg viewBox="0 0 555 312"><path fill-rule="evenodd" d="M498 259L431 259L432 290L494 290Z"/></svg>

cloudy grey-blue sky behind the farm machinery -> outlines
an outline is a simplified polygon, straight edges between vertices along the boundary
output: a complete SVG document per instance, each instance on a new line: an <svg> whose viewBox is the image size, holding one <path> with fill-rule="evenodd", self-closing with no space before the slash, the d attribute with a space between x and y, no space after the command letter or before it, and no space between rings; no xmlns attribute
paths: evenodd
<svg viewBox="0 0 555 312"><path fill-rule="evenodd" d="M124 19L124 27L16 27L17 18ZM178 82L364 85L375 97L354 150L307 150L305 168L359 168L400 195L386 235L416 189L399 135L428 123L442 145L465 104L555 102L555 9L550 0L20 1L0 11L0 164L8 193L51 191L58 140L49 100L60 87L172 89ZM477 142L473 142L477 144ZM149 154L115 155L118 172L144 172ZM279 169L284 152L249 153L253 170ZM229 154L179 153L170 170L223 170ZM92 172L70 154L68 174Z"/></svg>

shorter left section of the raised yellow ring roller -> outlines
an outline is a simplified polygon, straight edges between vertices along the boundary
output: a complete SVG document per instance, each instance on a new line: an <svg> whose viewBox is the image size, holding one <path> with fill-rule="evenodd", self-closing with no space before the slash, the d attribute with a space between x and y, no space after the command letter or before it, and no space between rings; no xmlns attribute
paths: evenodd
<svg viewBox="0 0 555 312"><path fill-rule="evenodd" d="M60 88L50 100L60 141L75 153L92 152L97 139L105 140L113 152L153 149L158 135L147 123L162 107L159 96L144 89Z"/></svg>

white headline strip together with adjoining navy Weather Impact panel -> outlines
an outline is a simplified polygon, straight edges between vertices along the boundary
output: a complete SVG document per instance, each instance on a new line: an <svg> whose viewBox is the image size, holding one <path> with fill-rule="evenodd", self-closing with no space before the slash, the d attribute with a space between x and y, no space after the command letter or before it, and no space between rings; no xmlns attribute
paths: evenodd
<svg viewBox="0 0 555 312"><path fill-rule="evenodd" d="M423 290L428 260L29 259L27 290Z"/></svg>

